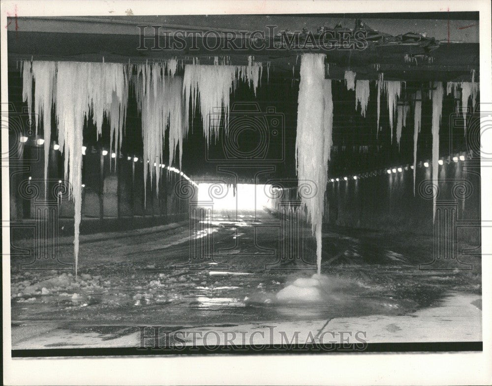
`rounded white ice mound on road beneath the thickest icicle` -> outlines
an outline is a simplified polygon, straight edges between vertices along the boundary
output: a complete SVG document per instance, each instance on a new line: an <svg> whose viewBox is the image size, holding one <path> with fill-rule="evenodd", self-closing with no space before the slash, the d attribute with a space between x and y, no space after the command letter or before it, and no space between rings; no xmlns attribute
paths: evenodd
<svg viewBox="0 0 492 386"><path fill-rule="evenodd" d="M300 277L280 290L277 293L277 300L286 302L322 301L322 287L325 286L326 281L326 277L318 274L314 274L310 278Z"/></svg>

